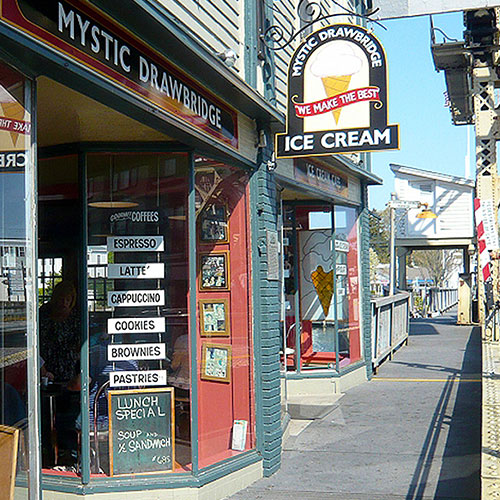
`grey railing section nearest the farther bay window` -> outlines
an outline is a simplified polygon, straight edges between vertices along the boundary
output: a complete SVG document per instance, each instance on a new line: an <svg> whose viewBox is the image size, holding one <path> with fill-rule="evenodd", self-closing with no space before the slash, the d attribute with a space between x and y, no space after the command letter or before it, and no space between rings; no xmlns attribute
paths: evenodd
<svg viewBox="0 0 500 500"><path fill-rule="evenodd" d="M393 352L408 342L410 330L409 292L399 292L389 297L371 301L372 365L375 369Z"/></svg>

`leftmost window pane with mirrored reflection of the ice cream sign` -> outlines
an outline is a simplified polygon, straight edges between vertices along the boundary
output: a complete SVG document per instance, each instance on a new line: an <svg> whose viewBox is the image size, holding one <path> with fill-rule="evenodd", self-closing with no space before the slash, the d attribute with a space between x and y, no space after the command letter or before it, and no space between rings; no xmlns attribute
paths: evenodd
<svg viewBox="0 0 500 500"><path fill-rule="evenodd" d="M27 287L30 210L25 203L30 184L31 111L29 82L0 63L0 441L1 491L8 498L26 497L22 487L34 454L30 453L28 401L36 391L28 384L32 318ZM30 396L31 394L31 396ZM33 462L31 462L33 465ZM24 482L18 479L25 477Z"/></svg>

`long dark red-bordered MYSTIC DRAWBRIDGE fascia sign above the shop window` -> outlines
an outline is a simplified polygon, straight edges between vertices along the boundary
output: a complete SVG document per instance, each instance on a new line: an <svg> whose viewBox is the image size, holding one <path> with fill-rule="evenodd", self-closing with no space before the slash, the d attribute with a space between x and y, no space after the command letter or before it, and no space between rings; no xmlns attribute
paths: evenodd
<svg viewBox="0 0 500 500"><path fill-rule="evenodd" d="M3 0L1 18L176 120L238 149L237 114L88 2ZM22 127L22 123L17 124Z"/></svg>

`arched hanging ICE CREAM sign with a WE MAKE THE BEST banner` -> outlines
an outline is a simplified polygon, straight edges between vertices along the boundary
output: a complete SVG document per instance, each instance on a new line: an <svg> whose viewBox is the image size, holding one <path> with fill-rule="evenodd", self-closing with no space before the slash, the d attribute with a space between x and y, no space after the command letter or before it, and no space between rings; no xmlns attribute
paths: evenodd
<svg viewBox="0 0 500 500"><path fill-rule="evenodd" d="M387 124L387 64L365 28L336 24L309 35L288 70L287 132L276 156L297 158L399 147Z"/></svg>

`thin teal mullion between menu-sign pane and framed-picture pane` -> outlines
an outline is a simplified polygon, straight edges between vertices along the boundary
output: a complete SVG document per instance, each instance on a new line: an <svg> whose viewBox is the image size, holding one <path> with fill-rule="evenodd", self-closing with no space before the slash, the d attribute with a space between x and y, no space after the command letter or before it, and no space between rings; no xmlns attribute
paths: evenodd
<svg viewBox="0 0 500 500"><path fill-rule="evenodd" d="M196 329L196 191L194 155L189 158L188 242L189 242L189 334L191 346L191 457L193 474L199 473L198 457L198 362Z"/></svg>

